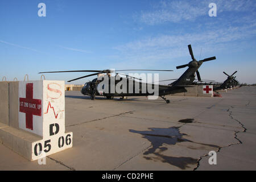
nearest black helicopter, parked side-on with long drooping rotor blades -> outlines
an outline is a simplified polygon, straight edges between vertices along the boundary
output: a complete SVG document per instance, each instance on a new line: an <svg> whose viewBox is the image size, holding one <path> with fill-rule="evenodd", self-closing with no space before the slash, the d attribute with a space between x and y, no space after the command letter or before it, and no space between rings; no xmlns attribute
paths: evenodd
<svg viewBox="0 0 256 182"><path fill-rule="evenodd" d="M201 80L200 74L198 69L200 68L200 66L205 62L205 61L210 61L210 60L215 60L216 57L209 57L207 59L203 59L200 61L197 61L193 55L193 51L191 48L191 45L188 45L188 50L189 53L191 55L192 61L190 61L188 64L184 64L184 65L180 65L178 67L176 67L177 69L180 68L185 68L188 67L188 69L183 73L183 75L181 75L178 79L170 79L170 80L176 80L174 82L172 82L169 85L158 85L158 96L160 96L161 98L163 98L163 100L166 101L166 103L170 103L170 100L167 100L164 96L168 95L168 94L174 94L174 93L180 93L180 92L187 92L187 90L185 89L185 87L189 87L192 86L192 82L195 80L195 76L197 75L197 80ZM118 73L120 71L172 71L172 70L155 70L155 69L124 69L124 70L117 70L117 71L112 71L109 69L106 70L102 70L102 71L98 71L98 70L81 70L81 71L55 71L55 72L40 72L40 73L61 73L61 72L96 72L90 75L86 75L86 76L82 76L79 78L75 78L73 80L69 80L68 82L71 81L75 81L75 80L79 80L81 78L85 78L85 77L89 77L89 76L95 76L101 74L101 73L106 73L106 75L108 75L109 78L113 78L113 76L111 76L111 73L115 73L115 77L117 77L118 75L123 75L122 73ZM101 92L100 89L98 89L98 84L101 83L101 81L103 81L106 77L104 77L102 80L99 80L98 78L93 79L92 81L86 82L85 85L83 86L83 88L81 89L81 93L84 95L88 95L91 97L92 100L94 100L95 96L105 96L107 99L111 99L113 97L127 97L127 96L152 96L155 93L150 93L148 90L148 84L149 83L143 83L141 81L136 81L136 79L141 80L140 78L136 78L136 77L132 77L132 76L128 76L125 75L125 77L121 77L118 80L114 79L114 82L111 82L109 80L108 82L108 88L110 91L111 86L116 86L120 81L124 81L127 82L127 92L121 92L121 93L111 93L111 92ZM129 81L132 82L132 84L129 84ZM168 81L168 80L165 80ZM114 85L113 85L114 84ZM139 85L139 89L135 90L135 85ZM151 86L151 88L155 88L156 84L149 84ZM105 86L105 85L104 85ZM129 91L129 86L133 86L132 89L133 92L128 92ZM146 90L144 90L145 92L142 92L142 88L143 86L145 86L144 88L146 88Z"/></svg>

